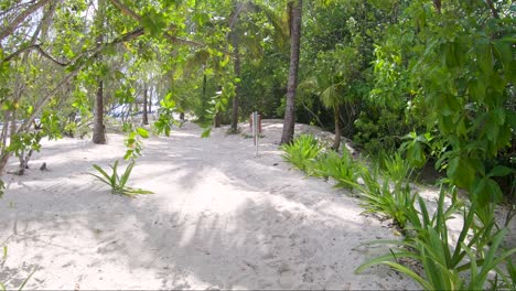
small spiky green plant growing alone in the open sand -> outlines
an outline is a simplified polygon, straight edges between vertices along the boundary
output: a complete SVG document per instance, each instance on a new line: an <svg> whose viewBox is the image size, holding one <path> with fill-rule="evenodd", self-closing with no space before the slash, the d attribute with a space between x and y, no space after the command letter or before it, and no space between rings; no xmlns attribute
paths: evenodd
<svg viewBox="0 0 516 291"><path fill-rule="evenodd" d="M107 185L109 185L111 187L112 194L121 194L121 195L126 195L129 197L133 197L138 194L153 194L153 192L151 191L127 186L127 182L132 172L132 169L135 168L135 163L136 162L132 160L127 165L126 171L123 171L123 174L121 175L119 175L117 171L118 160L115 162L115 164L109 165L109 168L111 168L112 170L111 174L108 174L99 165L94 164L93 166L95 168L95 170L97 170L101 175L96 175L96 174L90 174L90 175L97 177L103 183L106 183Z"/></svg>

